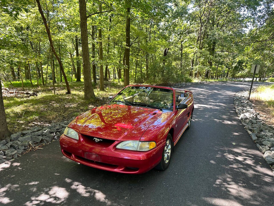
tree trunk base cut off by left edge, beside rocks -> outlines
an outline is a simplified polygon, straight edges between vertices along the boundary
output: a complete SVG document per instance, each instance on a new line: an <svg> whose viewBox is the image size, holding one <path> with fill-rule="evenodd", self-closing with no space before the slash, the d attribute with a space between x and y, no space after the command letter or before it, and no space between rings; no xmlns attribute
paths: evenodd
<svg viewBox="0 0 274 206"><path fill-rule="evenodd" d="M10 132L7 126L7 119L5 113L5 107L2 95L2 84L0 79L0 140L3 140L10 136Z"/></svg>

